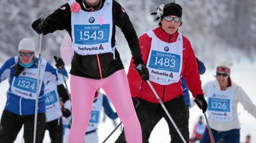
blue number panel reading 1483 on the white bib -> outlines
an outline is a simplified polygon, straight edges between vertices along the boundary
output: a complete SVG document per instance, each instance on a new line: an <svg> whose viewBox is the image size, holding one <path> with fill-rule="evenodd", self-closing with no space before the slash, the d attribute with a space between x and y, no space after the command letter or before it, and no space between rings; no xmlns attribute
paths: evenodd
<svg viewBox="0 0 256 143"><path fill-rule="evenodd" d="M148 67L178 73L180 70L180 55L152 50Z"/></svg>

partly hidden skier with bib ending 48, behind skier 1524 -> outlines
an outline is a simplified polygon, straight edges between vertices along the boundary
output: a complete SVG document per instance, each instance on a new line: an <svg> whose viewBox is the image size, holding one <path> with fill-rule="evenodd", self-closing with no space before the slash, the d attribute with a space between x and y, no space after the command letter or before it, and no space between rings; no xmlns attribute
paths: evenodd
<svg viewBox="0 0 256 143"><path fill-rule="evenodd" d="M49 131L49 135L52 143L62 143L63 142L63 126L62 126L62 115L70 116L71 112L66 108L61 109L59 97L63 99L68 99L69 95L65 88L63 87L63 78L65 81L68 79L68 73L64 67L64 63L61 58L54 56L55 66L58 73L58 83L47 81L45 85L45 96L46 96L46 125L45 130L40 140L42 143L45 131ZM63 91L61 91L63 90ZM64 100L67 101L67 100ZM62 113L63 112L63 113ZM68 115L67 115L68 113Z"/></svg>

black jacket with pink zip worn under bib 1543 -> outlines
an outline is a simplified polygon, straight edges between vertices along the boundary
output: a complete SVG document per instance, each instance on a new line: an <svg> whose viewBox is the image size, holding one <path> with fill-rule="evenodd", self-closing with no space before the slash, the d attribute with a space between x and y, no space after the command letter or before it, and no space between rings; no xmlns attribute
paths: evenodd
<svg viewBox="0 0 256 143"><path fill-rule="evenodd" d="M102 4L98 4L93 7L94 10L98 10L103 7L103 3L105 0L101 0ZM81 9L83 11L91 11L86 10L83 7L83 0L76 0L77 3L80 4ZM84 3L86 5L86 3ZM65 9L63 9L65 7ZM62 9L61 9L62 8ZM90 6L86 5L86 8L90 8ZM133 59L135 60L135 65L144 64L142 60L142 55L140 53L139 41L133 24L131 23L129 16L126 14L125 10L121 7L119 3L113 0L112 7L112 15L113 15L113 30L112 30L112 39L111 45L115 46L115 25L121 28L121 31L124 34L126 41L129 44L129 47L132 51ZM32 23L32 27L35 29L35 26L39 23L40 19L37 19ZM57 30L66 30L70 37L71 35L71 11L68 3L61 6L57 10L55 10L51 15L49 15L45 19L44 23L44 32L43 35L48 33L53 33ZM98 58L97 58L98 56ZM94 55L79 55L77 53L74 54L72 60L72 66L70 74L93 78L93 79L101 79L110 76L114 72L123 69L123 64L120 59L119 52L115 49L115 60L113 59L112 53L102 53L102 54L94 54Z"/></svg>

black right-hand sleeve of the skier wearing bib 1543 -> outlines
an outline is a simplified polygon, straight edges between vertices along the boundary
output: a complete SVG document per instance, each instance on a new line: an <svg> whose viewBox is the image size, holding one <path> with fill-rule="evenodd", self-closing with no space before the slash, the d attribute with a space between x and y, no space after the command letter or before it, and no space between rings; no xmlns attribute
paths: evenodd
<svg viewBox="0 0 256 143"><path fill-rule="evenodd" d="M113 1L113 21L114 24L121 28L122 33L131 49L134 64L143 64L142 54L140 53L140 45L138 36L135 32L133 24L125 12L124 8L119 3Z"/></svg>

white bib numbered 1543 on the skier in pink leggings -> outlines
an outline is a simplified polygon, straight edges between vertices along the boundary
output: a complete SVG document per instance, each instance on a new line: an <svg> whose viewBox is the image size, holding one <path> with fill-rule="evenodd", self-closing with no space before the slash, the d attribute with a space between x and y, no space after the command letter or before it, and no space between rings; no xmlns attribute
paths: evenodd
<svg viewBox="0 0 256 143"><path fill-rule="evenodd" d="M112 52L112 26L112 0L106 0L99 11L71 12L72 48L81 55Z"/></svg>

